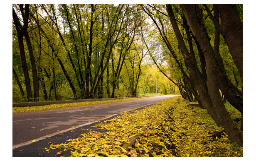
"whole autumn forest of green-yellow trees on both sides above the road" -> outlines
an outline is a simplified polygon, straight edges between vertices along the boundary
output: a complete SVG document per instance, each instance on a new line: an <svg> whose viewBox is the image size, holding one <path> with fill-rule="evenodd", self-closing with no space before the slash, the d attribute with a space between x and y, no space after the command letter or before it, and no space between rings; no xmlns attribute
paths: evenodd
<svg viewBox="0 0 256 161"><path fill-rule="evenodd" d="M13 4L12 74L13 103L181 94L243 145L242 4Z"/></svg>

